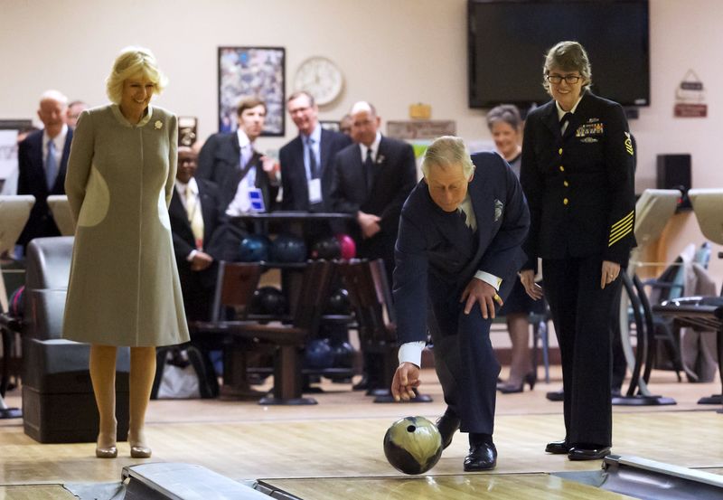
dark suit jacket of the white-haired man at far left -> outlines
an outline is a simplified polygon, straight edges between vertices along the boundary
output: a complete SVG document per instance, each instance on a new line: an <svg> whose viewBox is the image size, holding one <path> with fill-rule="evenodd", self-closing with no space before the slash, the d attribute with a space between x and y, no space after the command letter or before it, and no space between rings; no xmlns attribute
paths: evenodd
<svg viewBox="0 0 723 500"><path fill-rule="evenodd" d="M35 204L30 212L30 218L18 239L20 245L27 245L33 238L61 235L61 231L58 230L48 206L48 195L65 194L65 171L68 166L72 138L73 130L68 127L68 135L65 137L65 145L62 148L58 176L55 178L55 184L50 190L45 181L45 169L43 168L45 159L42 157L42 130L36 130L29 134L18 146L17 193L33 194L35 196Z"/></svg>

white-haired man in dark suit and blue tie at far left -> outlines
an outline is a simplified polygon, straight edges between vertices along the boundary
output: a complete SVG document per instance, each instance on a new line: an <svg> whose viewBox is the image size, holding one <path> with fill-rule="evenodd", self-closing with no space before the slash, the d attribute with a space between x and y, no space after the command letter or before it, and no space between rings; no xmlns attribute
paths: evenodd
<svg viewBox="0 0 723 500"><path fill-rule="evenodd" d="M73 131L65 123L68 98L58 90L42 94L38 117L43 130L25 137L18 146L18 194L33 194L35 204L18 244L27 247L33 238L60 236L52 219L48 195L65 194L65 170Z"/></svg>

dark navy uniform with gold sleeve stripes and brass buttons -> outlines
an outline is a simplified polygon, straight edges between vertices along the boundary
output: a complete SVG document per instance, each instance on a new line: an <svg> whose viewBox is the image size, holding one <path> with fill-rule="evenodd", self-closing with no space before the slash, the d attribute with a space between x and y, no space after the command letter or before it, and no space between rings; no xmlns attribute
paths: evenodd
<svg viewBox="0 0 723 500"><path fill-rule="evenodd" d="M542 258L562 357L566 443L607 447L609 317L621 280L601 289L601 268L604 260L625 268L635 246L634 146L623 108L584 92L564 134L554 100L533 110L521 184L531 212L524 268Z"/></svg>

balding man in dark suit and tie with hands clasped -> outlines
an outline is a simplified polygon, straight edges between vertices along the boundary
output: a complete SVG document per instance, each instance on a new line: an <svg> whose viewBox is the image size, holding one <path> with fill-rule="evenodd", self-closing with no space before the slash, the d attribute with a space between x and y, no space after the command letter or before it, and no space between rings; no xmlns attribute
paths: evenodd
<svg viewBox="0 0 723 500"><path fill-rule="evenodd" d="M384 259L391 282L399 213L417 184L414 150L407 143L382 137L380 117L368 102L352 111L355 143L340 151L333 163L330 200L333 212L352 213L351 234L357 256Z"/></svg>

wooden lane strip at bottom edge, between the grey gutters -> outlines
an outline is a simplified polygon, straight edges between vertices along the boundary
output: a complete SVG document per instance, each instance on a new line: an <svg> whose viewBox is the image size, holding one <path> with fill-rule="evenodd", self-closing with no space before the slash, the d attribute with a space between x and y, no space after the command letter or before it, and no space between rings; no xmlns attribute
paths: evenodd
<svg viewBox="0 0 723 500"><path fill-rule="evenodd" d="M274 491L308 500L611 500L632 498L547 474L419 477L336 477L263 481Z"/></svg>

